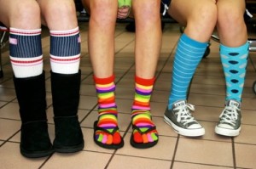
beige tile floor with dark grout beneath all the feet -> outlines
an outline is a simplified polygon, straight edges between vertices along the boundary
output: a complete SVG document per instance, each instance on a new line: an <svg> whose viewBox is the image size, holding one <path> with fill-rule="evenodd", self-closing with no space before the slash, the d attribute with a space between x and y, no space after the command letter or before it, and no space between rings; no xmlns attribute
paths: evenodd
<svg viewBox="0 0 256 169"><path fill-rule="evenodd" d="M119 127L125 138L125 147L108 150L97 147L92 139L96 120L96 93L87 49L88 23L81 23L82 84L79 121L84 132L84 150L70 155L55 153L47 158L26 159L20 155L20 116L9 51L3 50L3 73L0 79L0 168L1 169L224 169L256 168L256 96L252 86L256 80L256 54L250 53L247 80L242 101L242 130L239 137L225 138L214 133L215 123L224 106L224 75L218 56L218 42L211 41L211 53L203 59L195 73L189 92L189 103L196 105L195 117L206 128L201 138L185 138L173 132L163 121L171 84L172 60L180 36L176 24L166 24L156 71L152 96L153 120L160 133L160 141L151 149L134 149L129 144L131 135L130 109L133 99L134 33L125 31L126 24L116 27L116 100L119 106ZM46 70L49 134L54 138L53 112L49 82L49 36L43 34L44 70ZM100 49L100 47L99 47Z"/></svg>

